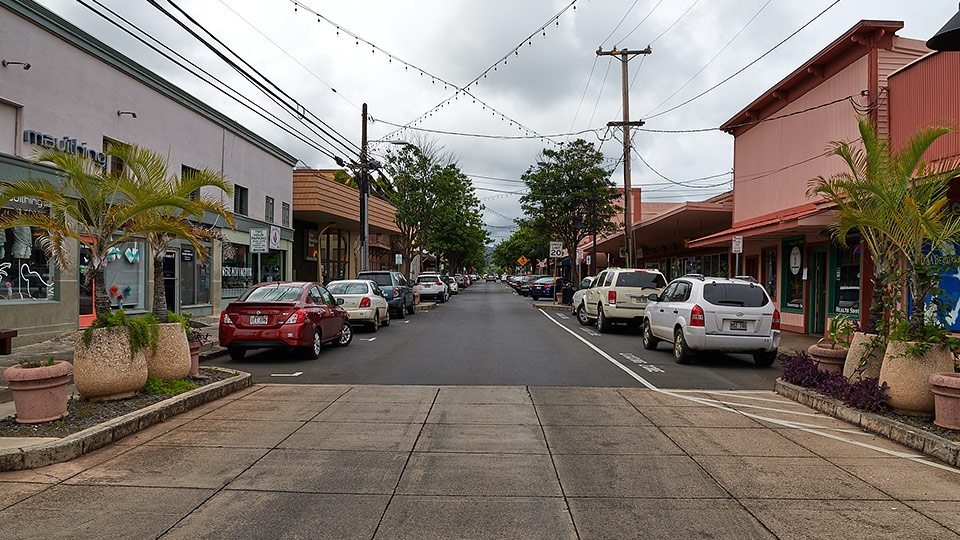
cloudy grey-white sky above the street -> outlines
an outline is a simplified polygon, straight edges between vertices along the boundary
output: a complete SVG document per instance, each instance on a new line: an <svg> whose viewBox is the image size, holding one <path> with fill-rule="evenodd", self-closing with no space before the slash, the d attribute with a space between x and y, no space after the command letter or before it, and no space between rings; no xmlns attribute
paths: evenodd
<svg viewBox="0 0 960 540"><path fill-rule="evenodd" d="M512 232L520 175L545 147L591 141L623 184L622 134L606 127L622 119L621 62L598 47L652 50L629 63L630 118L651 130L633 133L632 185L648 201L703 200L730 189L733 138L653 130L718 127L862 19L903 21L898 35L925 41L957 13L955 0L40 3L310 167L356 159L367 103L371 141L429 141L455 156L494 240ZM389 147L373 143L371 154Z"/></svg>

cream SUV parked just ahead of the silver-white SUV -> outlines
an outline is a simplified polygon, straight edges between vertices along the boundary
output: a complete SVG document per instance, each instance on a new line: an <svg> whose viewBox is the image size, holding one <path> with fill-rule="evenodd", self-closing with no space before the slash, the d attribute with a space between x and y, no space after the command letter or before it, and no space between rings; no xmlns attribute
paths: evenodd
<svg viewBox="0 0 960 540"><path fill-rule="evenodd" d="M608 332L614 322L639 328L647 307L647 295L662 292L666 285L667 280L659 270L607 268L587 289L584 311L597 322L600 332Z"/></svg>

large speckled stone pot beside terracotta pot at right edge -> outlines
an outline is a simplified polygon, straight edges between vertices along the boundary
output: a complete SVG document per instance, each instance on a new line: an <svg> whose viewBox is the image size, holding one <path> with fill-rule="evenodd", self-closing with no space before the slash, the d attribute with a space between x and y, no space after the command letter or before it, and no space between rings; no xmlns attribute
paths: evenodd
<svg viewBox="0 0 960 540"><path fill-rule="evenodd" d="M953 371L953 353L946 345L934 345L923 356L907 350L912 341L889 341L880 366L880 382L887 383L890 407L903 414L932 416L934 373Z"/></svg>

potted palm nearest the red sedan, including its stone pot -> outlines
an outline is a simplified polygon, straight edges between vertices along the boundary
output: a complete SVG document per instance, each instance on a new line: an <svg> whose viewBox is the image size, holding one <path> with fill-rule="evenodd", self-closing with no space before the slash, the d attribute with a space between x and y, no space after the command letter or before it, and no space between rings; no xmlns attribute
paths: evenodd
<svg viewBox="0 0 960 540"><path fill-rule="evenodd" d="M192 371L190 328L169 320L163 282L164 254L171 242L180 239L193 246L198 261L206 260L209 242L222 238L214 228L201 224L204 214L222 218L230 226L233 226L233 214L219 197L202 190L212 188L229 195L233 188L222 173L212 169L170 174L165 157L141 146L117 148L114 154L124 162L130 179L124 188L132 190L127 193L130 199L153 193L181 201L180 204L160 205L140 212L130 220L127 228L143 236L153 256L151 305L160 324L160 333L156 351L147 351L147 369L150 375L163 380L182 379Z"/></svg>

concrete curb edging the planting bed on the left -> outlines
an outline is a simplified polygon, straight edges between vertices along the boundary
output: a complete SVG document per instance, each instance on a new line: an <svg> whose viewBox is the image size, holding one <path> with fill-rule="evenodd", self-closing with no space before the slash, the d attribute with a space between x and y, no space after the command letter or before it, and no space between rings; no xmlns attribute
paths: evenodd
<svg viewBox="0 0 960 540"><path fill-rule="evenodd" d="M149 407L127 413L56 441L27 448L0 450L0 471L35 469L78 458L119 441L127 435L137 433L149 426L253 384L253 376L249 373L238 372L233 369L215 369L237 373L237 375L178 394Z"/></svg>

